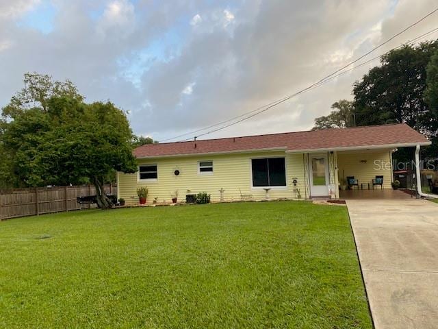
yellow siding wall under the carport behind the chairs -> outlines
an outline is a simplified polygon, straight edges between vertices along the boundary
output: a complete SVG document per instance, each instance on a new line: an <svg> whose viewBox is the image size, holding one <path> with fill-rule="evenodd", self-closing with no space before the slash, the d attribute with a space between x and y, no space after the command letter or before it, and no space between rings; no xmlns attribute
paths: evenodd
<svg viewBox="0 0 438 329"><path fill-rule="evenodd" d="M366 162L365 162L366 161ZM339 184L342 184L342 173L344 180L347 176L355 176L360 184L370 183L376 175L383 175L383 188L391 188L391 150L383 149L378 151L355 151L337 152L337 165ZM377 186L380 188L380 186Z"/></svg>

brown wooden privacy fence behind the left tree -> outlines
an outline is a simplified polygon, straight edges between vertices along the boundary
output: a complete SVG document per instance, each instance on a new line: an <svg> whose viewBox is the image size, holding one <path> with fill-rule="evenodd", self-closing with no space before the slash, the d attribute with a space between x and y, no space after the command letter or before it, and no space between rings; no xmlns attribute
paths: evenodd
<svg viewBox="0 0 438 329"><path fill-rule="evenodd" d="M105 185L107 194L116 194L116 186ZM96 195L94 186L57 186L0 190L2 219L96 208L96 204L78 204L77 197Z"/></svg>

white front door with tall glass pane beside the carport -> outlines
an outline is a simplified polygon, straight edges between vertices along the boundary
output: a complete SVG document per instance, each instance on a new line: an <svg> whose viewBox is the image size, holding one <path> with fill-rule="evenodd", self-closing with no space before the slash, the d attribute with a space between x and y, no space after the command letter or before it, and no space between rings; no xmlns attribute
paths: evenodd
<svg viewBox="0 0 438 329"><path fill-rule="evenodd" d="M329 195L329 161L327 154L310 154L310 195L320 197Z"/></svg>

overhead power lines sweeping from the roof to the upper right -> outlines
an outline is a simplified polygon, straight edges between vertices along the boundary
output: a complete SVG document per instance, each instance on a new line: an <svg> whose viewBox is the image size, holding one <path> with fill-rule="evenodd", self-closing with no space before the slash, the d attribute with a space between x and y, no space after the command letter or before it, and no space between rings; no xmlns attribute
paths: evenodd
<svg viewBox="0 0 438 329"><path fill-rule="evenodd" d="M318 82L315 82L315 83L311 84L310 86L307 86L306 88L304 88L304 89L302 89L302 90L299 90L297 93L294 93L294 94L289 95L289 96L287 96L287 97L283 97L282 99L278 99L278 100L276 100L276 101L272 101L271 103L268 103L268 104L266 104L266 105L264 105L264 106L260 106L259 108L256 108L255 110L251 110L251 111L246 112L246 113L244 113L244 114L240 114L240 115L238 115L237 117L233 117L233 118L231 118L231 119L227 119L227 120L221 121L221 122L219 122L219 123L215 123L214 125L209 125L208 127L203 127L203 128L201 128L201 129L194 130L194 131L192 131L192 132L187 132L187 133L185 133L185 134L180 134L180 135L178 135L178 136L174 136L174 137L172 137L172 138L167 138L167 139L165 139L165 140L163 140L163 141L161 141L161 142L164 142L164 141L171 141L171 140L173 140L173 139L176 139L176 138L179 138L179 137L182 137L182 136L187 136L187 135L196 134L196 132L201 132L201 131L204 131L204 130L208 130L208 129L212 128L212 127L217 127L218 125L222 125L222 124L224 124L224 123L229 123L229 122L231 122L231 121L234 121L235 119L240 119L240 118L242 118L242 119L240 119L240 120L237 120L237 121L231 122L231 123L229 123L229 124L227 124L227 125L224 125L224 126L218 127L218 128L216 128L216 129L214 129L214 130L211 130L211 131L205 132L205 133L203 133L203 134L199 134L198 136L196 136L196 138L197 138L197 137L201 137L201 136L205 136L205 135L207 135L207 134L211 134L211 133L213 133L213 132L217 132L218 130L225 129L225 128L227 128L227 127L230 127L231 125L235 125L235 124L237 124L237 123L240 123L240 122L242 122L242 121L245 121L245 120L247 120L247 119L250 119L250 118L252 118L252 117L255 117L255 116L258 115L258 114L261 114L261 113L263 113L263 112L266 112L266 111L270 110L271 108L273 108L274 106L277 106L277 105L279 105L280 103L283 103L283 102L285 102L285 101L291 99L292 97L296 97L297 95L300 95L301 93L305 93L306 91L311 90L311 89L313 89L313 88L316 87L316 86L320 86L320 85L322 85L322 84L325 84L326 82L329 82L329 81L333 80L333 78L338 77L339 75L342 75L342 74L344 74L344 73L347 73L347 72L349 72L349 71L352 71L352 69L357 69L357 68L360 67L360 66L363 66L363 65L365 65L365 64L368 64L368 62L372 62L373 60L376 60L377 58L380 58L381 56L377 56L376 58L372 58L371 60L368 60L367 62L364 62L364 63L362 63L362 64L359 64L358 66L355 66L355 67L353 67L353 68L351 68L351 69L348 69L348 70L346 70L346 71L344 71L344 72L342 72L342 73L339 73L339 72L343 71L344 69L346 69L348 66L350 66L350 65L352 65L352 64L355 64L356 62L358 62L358 61L361 60L362 58L365 58L365 56L368 56L370 53L376 51L376 49L381 48L381 47L383 47L383 45L386 45L386 44L387 44L388 42L390 42L391 40L394 40L394 38L396 38L397 36L400 36L400 35L403 34L404 32L407 32L407 30L411 29L412 27L414 27L414 26L417 25L418 23L424 21L424 19L426 19L428 16L434 14L434 13L437 12L437 11L438 11L438 8L436 8L436 9L433 10L432 12L429 12L428 14L426 14L426 16L422 17L422 19L420 19L420 20L416 21L415 23L412 23L412 24L409 25L408 27L402 29L402 31L398 32L397 34L394 34L394 36L391 36L391 38L385 40L385 42L382 42L381 44L377 45L376 47L374 47L373 49L371 49L371 50L368 51L367 53L363 54L363 55L360 56L359 58L353 60L352 62L349 62L349 63L346 64L345 66L342 66L342 68L337 69L336 71L334 71L334 72L331 73L330 75L327 75L326 77L323 77L321 80L318 80ZM418 40L418 38L422 38L422 37L424 37L425 35L428 35L428 34L431 34L431 33L433 33L433 32L436 32L437 30L438 30L438 28L437 28L437 29L433 29L432 31L430 31L430 32L426 32L426 34L422 34L422 36L418 36L417 38L414 38L413 40ZM412 42L413 40L408 41L408 43ZM397 49L397 48L400 48L400 47L402 47L402 46L395 47L394 49ZM391 50L394 50L394 49L391 49ZM339 74L337 74L337 73L339 73ZM248 115L248 114L250 114L250 115ZM248 116L248 117L246 117L246 116ZM186 139L184 139L184 140L182 140L182 141L188 141L188 140L190 140L190 139L192 139L192 137L190 137L190 138L186 138Z"/></svg>

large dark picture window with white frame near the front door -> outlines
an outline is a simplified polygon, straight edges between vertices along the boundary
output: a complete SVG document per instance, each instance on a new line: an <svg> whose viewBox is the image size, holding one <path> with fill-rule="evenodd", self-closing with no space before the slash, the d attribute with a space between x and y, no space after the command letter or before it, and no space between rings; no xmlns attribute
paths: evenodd
<svg viewBox="0 0 438 329"><path fill-rule="evenodd" d="M285 158L252 159L253 186L286 186Z"/></svg>

